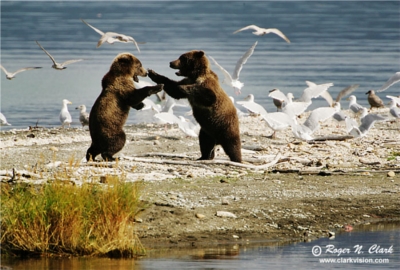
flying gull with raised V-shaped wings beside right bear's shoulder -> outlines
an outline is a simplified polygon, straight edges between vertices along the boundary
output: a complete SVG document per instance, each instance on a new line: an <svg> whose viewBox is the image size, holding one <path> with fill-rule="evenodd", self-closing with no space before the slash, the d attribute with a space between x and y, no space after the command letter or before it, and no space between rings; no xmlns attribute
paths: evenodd
<svg viewBox="0 0 400 270"><path fill-rule="evenodd" d="M233 89L235 89L236 95L239 95L241 93L241 89L244 86L244 84L239 81L239 74L240 71L243 68L243 65L246 64L247 59L253 54L254 48L257 46L257 41L253 44L253 46L250 47L250 49L247 50L247 52L236 62L235 66L235 71L233 72L232 76L229 74L228 71L226 71L220 64L217 63L217 61L214 60L211 56L211 60L213 60L214 64L223 72L224 74L224 80L222 83L225 83L226 85L231 86Z"/></svg>

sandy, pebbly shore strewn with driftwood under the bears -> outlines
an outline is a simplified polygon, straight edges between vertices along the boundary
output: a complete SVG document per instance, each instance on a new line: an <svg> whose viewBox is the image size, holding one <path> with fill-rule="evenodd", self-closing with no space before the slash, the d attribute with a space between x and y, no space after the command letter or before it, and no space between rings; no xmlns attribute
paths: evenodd
<svg viewBox="0 0 400 270"><path fill-rule="evenodd" d="M290 130L272 140L258 117L242 118L242 166L224 164L222 150L220 163L195 161L198 140L176 126L125 131L120 161L101 166L84 161L87 129L2 131L2 182L40 184L57 176L100 183L106 175L143 180L146 207L135 228L146 246L312 239L345 224L400 218L400 133L390 122L376 124L362 139L307 143L294 140ZM327 122L317 136L328 135L346 132Z"/></svg>

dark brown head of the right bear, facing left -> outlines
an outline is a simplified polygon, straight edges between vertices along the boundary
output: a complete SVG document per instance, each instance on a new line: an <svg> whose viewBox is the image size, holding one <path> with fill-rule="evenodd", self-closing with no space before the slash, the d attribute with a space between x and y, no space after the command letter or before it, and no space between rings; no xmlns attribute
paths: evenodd
<svg viewBox="0 0 400 270"><path fill-rule="evenodd" d="M175 74L189 78L197 78L206 73L209 62L203 51L190 51L169 63L170 68L179 69Z"/></svg>

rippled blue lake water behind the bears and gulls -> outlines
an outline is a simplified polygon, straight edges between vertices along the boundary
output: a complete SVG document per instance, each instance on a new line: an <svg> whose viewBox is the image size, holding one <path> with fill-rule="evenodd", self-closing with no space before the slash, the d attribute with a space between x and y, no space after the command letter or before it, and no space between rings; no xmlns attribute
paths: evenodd
<svg viewBox="0 0 400 270"><path fill-rule="evenodd" d="M236 61L258 41L240 74L245 84L242 94L235 96L223 87L236 100L254 94L268 111L276 110L269 90L279 88L299 97L306 80L334 83L329 89L333 97L350 84L360 84L355 95L367 105L365 92L379 88L400 70L399 1L1 1L0 5L1 64L9 71L43 67L19 73L11 81L0 74L0 110L12 124L3 130L36 123L60 126L64 98L72 101L73 126L79 126L75 107L85 104L90 110L113 58L126 51L145 68L179 79L169 62L186 51L204 50L232 72ZM146 44L140 45L141 53L133 44L96 48L100 35L81 18L100 30L131 35ZM251 30L232 34L249 24L278 28L291 43L274 34L258 37ZM85 60L56 71L35 40L58 62ZM212 68L222 80L222 73ZM399 94L397 84L379 96L385 100L386 95ZM347 108L348 101L341 103ZM317 99L310 109L326 104ZM127 123L149 121L151 114L132 109Z"/></svg>

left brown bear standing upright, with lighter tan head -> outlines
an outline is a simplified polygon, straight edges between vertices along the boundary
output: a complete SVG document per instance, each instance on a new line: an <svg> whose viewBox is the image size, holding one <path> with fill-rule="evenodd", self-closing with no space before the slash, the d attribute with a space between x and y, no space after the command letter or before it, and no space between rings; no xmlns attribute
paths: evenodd
<svg viewBox="0 0 400 270"><path fill-rule="evenodd" d="M102 79L103 90L90 111L92 144L86 153L87 161L98 154L104 160L114 160L113 155L125 145L122 127L130 107L140 110L144 107L143 99L162 90L162 85L135 89L133 81L138 82L138 76L146 77L147 71L133 54L121 53L115 57Z"/></svg>

